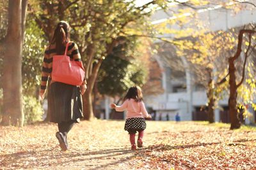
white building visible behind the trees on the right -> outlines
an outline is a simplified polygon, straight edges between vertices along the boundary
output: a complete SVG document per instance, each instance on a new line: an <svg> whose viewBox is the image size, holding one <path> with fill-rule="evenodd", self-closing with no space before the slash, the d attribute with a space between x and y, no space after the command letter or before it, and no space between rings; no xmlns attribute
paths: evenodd
<svg viewBox="0 0 256 170"><path fill-rule="evenodd" d="M253 3L253 1L252 1ZM255 2L254 2L255 3ZM234 4L230 4L234 5ZM180 8L180 5L172 6L172 10ZM231 10L223 8L223 6L212 6L211 8L205 8L197 11L198 18L204 23L205 29L209 31L227 31L230 28L240 27L246 24L255 23L256 12L250 10L242 10L238 13L233 13ZM191 13L186 13L187 17ZM152 17L152 24L160 24L166 20L172 20L177 17L170 17L163 10L156 11ZM191 22L194 22L191 20ZM191 26L191 25L190 25ZM177 25L172 25L175 29L179 29ZM172 36L170 34L164 36ZM172 55L172 54L170 54ZM159 96L147 96L145 97L147 107L156 111L156 120L174 120L176 113L179 113L181 120L193 120L193 111L198 111L201 106L207 104L207 96L205 90L198 89L198 87L191 81L191 71L185 69L185 76L179 79L172 79L170 74L172 69L166 66L162 57L159 55L154 56L159 66L164 70L162 73L162 86L164 94ZM186 60L182 59L184 67L186 68ZM184 88L185 87L185 88ZM228 98L220 101L219 106L228 106ZM215 111L216 122L227 120L227 111ZM223 115L225 114L225 115ZM195 120L195 117L194 117ZM248 122L248 120L246 120Z"/></svg>

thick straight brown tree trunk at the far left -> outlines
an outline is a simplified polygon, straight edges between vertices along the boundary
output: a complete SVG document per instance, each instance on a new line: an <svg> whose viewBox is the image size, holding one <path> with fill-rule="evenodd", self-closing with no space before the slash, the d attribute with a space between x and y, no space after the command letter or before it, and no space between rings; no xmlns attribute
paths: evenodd
<svg viewBox="0 0 256 170"><path fill-rule="evenodd" d="M9 0L8 30L3 65L3 125L23 126L22 111L22 1Z"/></svg>

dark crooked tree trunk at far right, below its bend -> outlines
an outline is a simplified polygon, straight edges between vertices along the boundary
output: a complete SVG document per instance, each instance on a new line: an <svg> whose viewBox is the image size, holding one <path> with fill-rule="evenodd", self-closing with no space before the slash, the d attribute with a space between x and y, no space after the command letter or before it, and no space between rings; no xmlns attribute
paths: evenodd
<svg viewBox="0 0 256 170"><path fill-rule="evenodd" d="M230 114L231 126L230 129L239 129L241 127L240 118L237 113L237 85L236 85L236 67L234 64L234 59L230 58L229 62L229 86L230 86L230 96L228 99L228 110Z"/></svg>

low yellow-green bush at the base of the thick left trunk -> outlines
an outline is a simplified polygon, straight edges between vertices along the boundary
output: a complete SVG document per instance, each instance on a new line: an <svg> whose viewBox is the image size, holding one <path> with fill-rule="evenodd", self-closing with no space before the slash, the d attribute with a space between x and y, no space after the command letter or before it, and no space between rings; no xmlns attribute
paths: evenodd
<svg viewBox="0 0 256 170"><path fill-rule="evenodd" d="M42 105L32 96L23 96L23 111L24 111L24 124L31 124L36 121L42 120L44 110Z"/></svg>

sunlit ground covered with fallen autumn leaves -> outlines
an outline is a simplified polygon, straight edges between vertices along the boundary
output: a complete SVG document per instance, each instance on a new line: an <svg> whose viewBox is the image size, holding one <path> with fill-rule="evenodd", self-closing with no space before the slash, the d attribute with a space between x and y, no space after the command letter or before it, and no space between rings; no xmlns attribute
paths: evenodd
<svg viewBox="0 0 256 170"><path fill-rule="evenodd" d="M61 152L56 124L0 127L0 169L256 169L256 131L196 122L147 122L131 151L124 121L76 124Z"/></svg>

